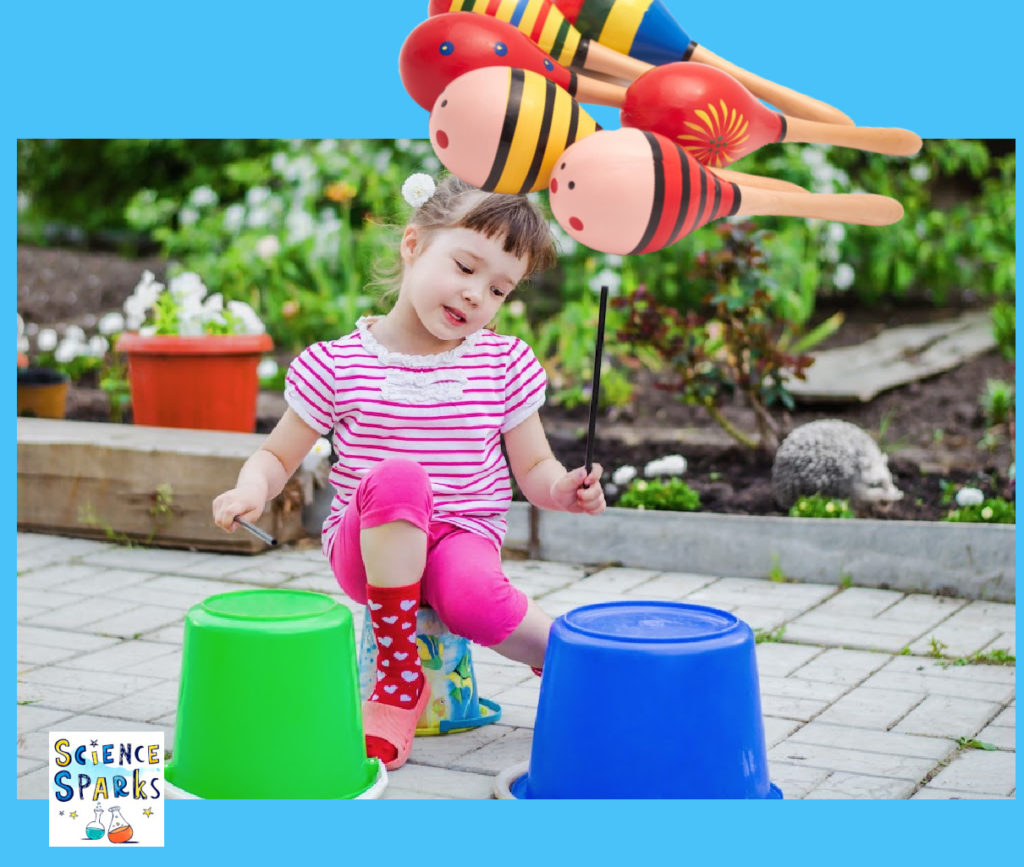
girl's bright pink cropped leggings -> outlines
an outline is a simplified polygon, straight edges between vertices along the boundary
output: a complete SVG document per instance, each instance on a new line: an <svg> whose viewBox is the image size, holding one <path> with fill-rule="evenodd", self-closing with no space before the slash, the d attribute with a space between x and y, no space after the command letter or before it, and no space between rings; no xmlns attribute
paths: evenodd
<svg viewBox="0 0 1024 867"><path fill-rule="evenodd" d="M509 583L494 544L476 533L432 520L430 477L413 461L382 461L359 482L338 528L331 568L341 589L367 601L367 570L359 531L408 521L427 534L427 565L420 599L456 635L489 647L509 637L526 614L526 596ZM410 575L410 583L416 580Z"/></svg>

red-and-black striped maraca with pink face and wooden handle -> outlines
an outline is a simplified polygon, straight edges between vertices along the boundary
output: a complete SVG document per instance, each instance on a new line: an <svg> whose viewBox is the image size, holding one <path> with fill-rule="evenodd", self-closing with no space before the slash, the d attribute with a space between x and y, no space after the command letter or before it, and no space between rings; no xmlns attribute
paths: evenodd
<svg viewBox="0 0 1024 867"><path fill-rule="evenodd" d="M551 173L551 211L581 244L603 253L650 253L719 217L773 214L888 225L894 199L786 192L723 181L655 132L602 130L565 149Z"/></svg>

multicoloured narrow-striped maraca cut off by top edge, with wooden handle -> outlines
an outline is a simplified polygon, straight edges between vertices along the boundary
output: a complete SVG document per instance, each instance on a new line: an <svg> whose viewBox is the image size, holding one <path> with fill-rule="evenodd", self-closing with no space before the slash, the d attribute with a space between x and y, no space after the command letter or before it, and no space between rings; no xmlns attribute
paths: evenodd
<svg viewBox="0 0 1024 867"><path fill-rule="evenodd" d="M650 63L581 35L551 0L430 0L430 15L476 12L517 28L559 63L633 81Z"/></svg>

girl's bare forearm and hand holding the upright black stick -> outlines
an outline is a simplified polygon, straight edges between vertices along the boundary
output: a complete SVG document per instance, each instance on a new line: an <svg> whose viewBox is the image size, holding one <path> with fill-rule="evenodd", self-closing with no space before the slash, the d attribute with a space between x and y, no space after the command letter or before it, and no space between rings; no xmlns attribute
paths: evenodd
<svg viewBox="0 0 1024 867"><path fill-rule="evenodd" d="M519 490L539 509L590 515L604 511L601 465L594 464L590 475L583 467L567 472L551 451L539 414L505 434L505 450Z"/></svg>

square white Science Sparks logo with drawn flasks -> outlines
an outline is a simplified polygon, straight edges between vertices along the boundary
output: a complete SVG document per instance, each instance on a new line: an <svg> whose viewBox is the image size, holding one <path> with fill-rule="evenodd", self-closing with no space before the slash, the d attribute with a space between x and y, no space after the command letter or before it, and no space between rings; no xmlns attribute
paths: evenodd
<svg viewBox="0 0 1024 867"><path fill-rule="evenodd" d="M50 732L50 846L164 844L164 733Z"/></svg>

